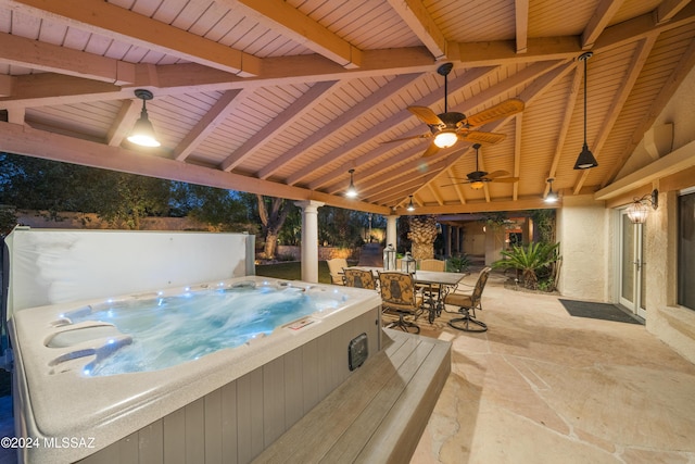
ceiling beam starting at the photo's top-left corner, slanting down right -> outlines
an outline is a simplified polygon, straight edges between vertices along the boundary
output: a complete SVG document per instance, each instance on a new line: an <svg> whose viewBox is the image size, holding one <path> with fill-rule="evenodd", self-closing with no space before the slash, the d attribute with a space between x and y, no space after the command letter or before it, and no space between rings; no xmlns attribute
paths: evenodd
<svg viewBox="0 0 695 464"><path fill-rule="evenodd" d="M134 43L182 60L216 67L242 76L257 75L261 60L256 57L208 40L195 34L169 26L105 1L81 0L3 0L16 11L55 22L60 16L79 27L116 40ZM258 2L258 3L265 3ZM27 11L28 9L28 11Z"/></svg>

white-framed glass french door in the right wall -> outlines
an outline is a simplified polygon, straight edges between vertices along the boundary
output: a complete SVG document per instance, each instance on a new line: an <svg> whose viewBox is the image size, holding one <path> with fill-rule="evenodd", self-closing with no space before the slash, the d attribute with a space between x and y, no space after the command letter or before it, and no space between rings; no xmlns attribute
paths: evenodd
<svg viewBox="0 0 695 464"><path fill-rule="evenodd" d="M620 304L646 318L646 265L643 242L646 224L632 224L620 213Z"/></svg>

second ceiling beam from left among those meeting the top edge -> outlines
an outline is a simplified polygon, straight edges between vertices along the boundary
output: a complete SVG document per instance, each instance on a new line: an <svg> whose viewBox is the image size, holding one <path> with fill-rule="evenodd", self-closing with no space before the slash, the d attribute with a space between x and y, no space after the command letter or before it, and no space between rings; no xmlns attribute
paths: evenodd
<svg viewBox="0 0 695 464"><path fill-rule="evenodd" d="M256 14L253 17L268 28L280 29L309 50L315 51L339 65L353 68L362 65L362 51L349 41L321 26L283 0L223 0L223 3L241 3Z"/></svg>

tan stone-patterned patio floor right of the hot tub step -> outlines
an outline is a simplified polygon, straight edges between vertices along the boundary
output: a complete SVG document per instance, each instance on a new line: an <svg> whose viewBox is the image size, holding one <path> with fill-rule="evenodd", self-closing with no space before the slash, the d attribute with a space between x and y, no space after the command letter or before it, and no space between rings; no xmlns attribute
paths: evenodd
<svg viewBox="0 0 695 464"><path fill-rule="evenodd" d="M694 364L642 325L504 280L483 292L486 333L418 319L452 341L452 373L412 463L695 463Z"/></svg>

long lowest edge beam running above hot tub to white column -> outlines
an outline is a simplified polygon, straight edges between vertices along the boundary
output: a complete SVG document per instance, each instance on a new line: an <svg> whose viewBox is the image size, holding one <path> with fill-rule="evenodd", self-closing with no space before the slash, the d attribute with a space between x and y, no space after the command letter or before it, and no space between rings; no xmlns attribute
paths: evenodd
<svg viewBox="0 0 695 464"><path fill-rule="evenodd" d="M162 156L143 155L119 147L37 130L27 126L0 122L0 151L25 154L46 160L169 180L204 185L230 190L248 191L289 200L316 200L326 204L388 215L391 210L338 196L285 186L239 174L182 163Z"/></svg>

